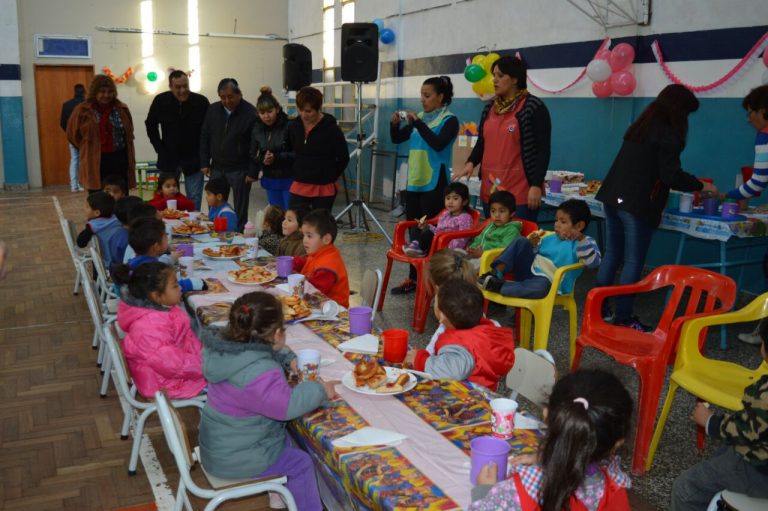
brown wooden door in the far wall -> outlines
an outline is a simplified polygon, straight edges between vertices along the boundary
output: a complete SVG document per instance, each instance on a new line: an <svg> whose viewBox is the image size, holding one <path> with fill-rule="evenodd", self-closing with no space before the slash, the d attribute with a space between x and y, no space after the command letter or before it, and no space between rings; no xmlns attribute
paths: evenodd
<svg viewBox="0 0 768 511"><path fill-rule="evenodd" d="M61 129L61 105L75 95L75 85L88 90L93 66L35 66L37 135L43 186L69 184L69 143Z"/></svg>

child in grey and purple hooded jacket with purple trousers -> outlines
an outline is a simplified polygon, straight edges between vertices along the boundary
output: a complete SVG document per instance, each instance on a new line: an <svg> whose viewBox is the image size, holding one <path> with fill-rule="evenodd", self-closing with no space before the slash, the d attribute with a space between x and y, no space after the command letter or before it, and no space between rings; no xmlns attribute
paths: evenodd
<svg viewBox="0 0 768 511"><path fill-rule="evenodd" d="M291 388L284 371L296 370L285 346L283 309L274 296L238 298L221 335L203 335L208 402L200 419L205 470L226 479L282 475L307 511L323 509L312 459L293 447L285 423L336 396L332 382L305 381Z"/></svg>

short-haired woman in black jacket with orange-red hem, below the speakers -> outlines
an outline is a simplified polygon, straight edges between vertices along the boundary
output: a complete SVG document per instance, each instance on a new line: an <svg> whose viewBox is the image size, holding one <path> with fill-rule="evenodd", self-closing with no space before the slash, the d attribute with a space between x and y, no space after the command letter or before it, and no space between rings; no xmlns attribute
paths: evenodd
<svg viewBox="0 0 768 511"><path fill-rule="evenodd" d="M336 118L320 111L323 94L302 87L296 94L299 119L288 124L284 150L291 153L293 183L289 189L290 208L333 208L336 181L349 163L349 148Z"/></svg>

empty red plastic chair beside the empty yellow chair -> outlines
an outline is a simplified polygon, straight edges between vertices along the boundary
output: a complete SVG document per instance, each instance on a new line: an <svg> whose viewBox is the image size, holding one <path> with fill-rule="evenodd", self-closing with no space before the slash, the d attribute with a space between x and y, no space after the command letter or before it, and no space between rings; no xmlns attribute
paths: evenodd
<svg viewBox="0 0 768 511"><path fill-rule="evenodd" d="M601 307L609 296L645 293L663 288L672 290L655 331L640 332L603 321ZM701 268L675 265L656 268L636 284L596 288L587 295L581 335L576 339L571 369L575 370L579 366L582 350L590 347L637 371L640 395L637 400L637 432L632 456L634 473L642 474L645 470L664 376L677 348L682 323L687 319L729 311L735 299L736 283L730 277ZM676 319L675 314L682 307L685 310Z"/></svg>

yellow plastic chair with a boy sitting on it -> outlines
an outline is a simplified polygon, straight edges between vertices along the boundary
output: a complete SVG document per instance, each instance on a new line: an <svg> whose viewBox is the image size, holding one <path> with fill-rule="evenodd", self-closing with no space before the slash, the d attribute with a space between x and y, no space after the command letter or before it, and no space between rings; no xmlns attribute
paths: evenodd
<svg viewBox="0 0 768 511"><path fill-rule="evenodd" d="M482 257L480 258L480 275L491 271L491 263L503 251L503 248L499 248L494 250L486 250L483 252ZM555 305L559 305L564 308L566 311L568 311L570 358L573 359L574 347L576 345L576 329L578 328L578 322L576 319L576 300L573 297L573 293L561 295L557 290L560 287L560 283L562 282L563 277L567 272L580 270L583 267L584 263L576 263L558 268L554 277L552 278L552 287L549 288L549 293L544 298L514 298L511 296L503 296L499 293L492 293L490 291L482 290L483 298L489 302L498 303L507 307L518 307L520 309L520 315L518 316L520 321L519 343L523 348L531 349L531 320L534 320L535 329L533 330L533 350L547 349L547 342L549 341L549 327L552 323L552 311L554 310Z"/></svg>

